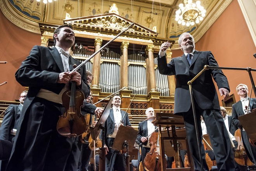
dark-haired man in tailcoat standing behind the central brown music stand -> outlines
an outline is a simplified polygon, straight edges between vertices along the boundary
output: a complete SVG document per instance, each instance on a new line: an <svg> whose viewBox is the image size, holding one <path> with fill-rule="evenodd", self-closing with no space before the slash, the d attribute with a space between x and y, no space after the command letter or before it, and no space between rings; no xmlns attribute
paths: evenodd
<svg viewBox="0 0 256 171"><path fill-rule="evenodd" d="M121 97L120 95L116 94L112 98L112 109L109 112L109 116L105 122L105 144L106 147L106 171L124 171L125 166L125 156L124 154L120 154L120 151L111 149L116 134L118 132L118 127L120 125L129 125L131 126L128 113L123 110L120 110L121 105ZM125 114L126 113L126 114ZM123 120L123 123L120 123L123 119L124 115L126 117Z"/></svg>

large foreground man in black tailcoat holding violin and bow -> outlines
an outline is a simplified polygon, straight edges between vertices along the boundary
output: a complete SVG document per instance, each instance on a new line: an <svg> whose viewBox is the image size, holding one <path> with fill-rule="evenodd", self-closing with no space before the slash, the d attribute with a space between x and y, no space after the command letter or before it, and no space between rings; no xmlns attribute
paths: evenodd
<svg viewBox="0 0 256 171"><path fill-rule="evenodd" d="M22 86L29 86L19 129L7 165L7 171L76 170L81 146L78 137L65 137L57 132L59 116L65 112L62 94L70 90L71 81L85 98L90 87L86 83L85 66L70 72L80 61L69 55L75 35L73 26L64 24L54 31L55 47L34 46L15 76Z"/></svg>

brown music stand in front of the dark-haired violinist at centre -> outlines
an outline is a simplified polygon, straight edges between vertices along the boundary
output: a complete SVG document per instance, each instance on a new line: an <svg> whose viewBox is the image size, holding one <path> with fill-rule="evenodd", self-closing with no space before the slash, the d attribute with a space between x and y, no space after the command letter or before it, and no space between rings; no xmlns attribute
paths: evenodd
<svg viewBox="0 0 256 171"><path fill-rule="evenodd" d="M133 148L129 148L129 145L131 144L133 147L137 135L138 131L132 127L120 125L112 146L112 149L127 152L127 155L125 156L126 171L130 171L130 156L128 152L133 150Z"/></svg>

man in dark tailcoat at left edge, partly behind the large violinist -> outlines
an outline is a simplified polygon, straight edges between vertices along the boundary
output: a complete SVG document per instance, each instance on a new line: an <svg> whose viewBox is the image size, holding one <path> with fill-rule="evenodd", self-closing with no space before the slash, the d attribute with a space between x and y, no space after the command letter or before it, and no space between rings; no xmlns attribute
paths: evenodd
<svg viewBox="0 0 256 171"><path fill-rule="evenodd" d="M3 117L3 122L0 127L0 141L1 143L5 144L5 141L12 142L12 139L16 135L17 131L17 125L19 122L19 117L21 115L21 110L23 107L24 100L26 99L28 91L22 91L20 97L19 97L19 105L9 105L7 108L5 115ZM3 140L3 141L2 141ZM7 147L3 147L5 150L7 150ZM11 151L11 149L9 149ZM1 169L5 170L6 164L8 163L8 160L1 161Z"/></svg>

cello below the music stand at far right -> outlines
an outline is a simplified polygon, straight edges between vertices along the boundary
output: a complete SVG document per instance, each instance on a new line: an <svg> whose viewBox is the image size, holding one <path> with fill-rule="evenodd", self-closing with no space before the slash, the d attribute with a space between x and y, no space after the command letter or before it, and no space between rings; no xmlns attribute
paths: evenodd
<svg viewBox="0 0 256 171"><path fill-rule="evenodd" d="M235 162L241 166L252 166L253 162L249 159L244 149L244 144L242 142L241 129L235 131L235 140L237 141L237 149L235 149Z"/></svg>

